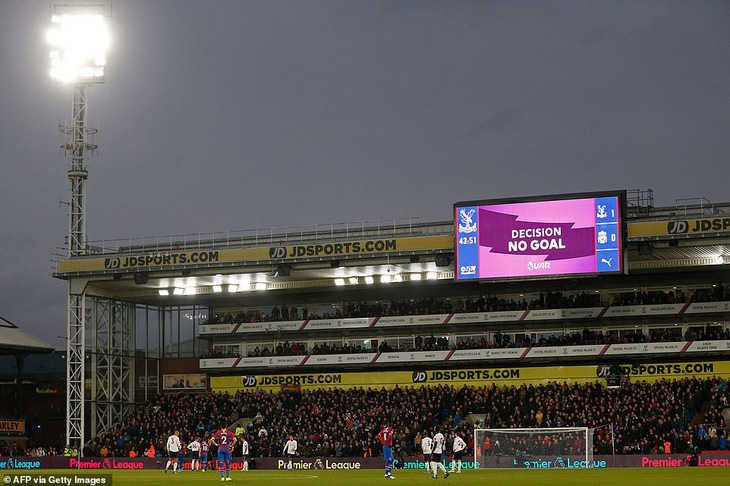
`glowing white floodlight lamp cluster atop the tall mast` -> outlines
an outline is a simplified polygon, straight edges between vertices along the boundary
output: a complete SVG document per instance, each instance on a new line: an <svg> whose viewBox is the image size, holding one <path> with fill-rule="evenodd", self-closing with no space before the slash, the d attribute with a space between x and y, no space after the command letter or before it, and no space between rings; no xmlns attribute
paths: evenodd
<svg viewBox="0 0 730 486"><path fill-rule="evenodd" d="M51 77L62 83L104 81L109 31L103 9L85 6L51 17Z"/></svg>

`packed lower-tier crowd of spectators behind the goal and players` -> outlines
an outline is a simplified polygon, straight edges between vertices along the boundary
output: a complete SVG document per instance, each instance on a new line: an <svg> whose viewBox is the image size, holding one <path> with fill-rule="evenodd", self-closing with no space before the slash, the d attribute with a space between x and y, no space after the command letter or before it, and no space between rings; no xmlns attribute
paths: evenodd
<svg viewBox="0 0 730 486"><path fill-rule="evenodd" d="M391 390L354 388L279 392L240 391L235 395L162 394L137 408L123 422L93 439L87 455L162 451L179 430L183 441L208 437L219 423L249 418L245 434L252 455L279 457L288 435L304 456L377 456L377 432L384 423L396 431L404 454L420 453L423 431L458 430L473 445L468 414L480 414L487 428L599 427L613 425L619 454L653 454L727 449L727 428L720 414L730 401L720 379L632 382L609 389L598 382L519 387L454 388L439 385ZM705 401L712 404L702 425L692 419ZM611 453L611 428L597 428L594 452Z"/></svg>

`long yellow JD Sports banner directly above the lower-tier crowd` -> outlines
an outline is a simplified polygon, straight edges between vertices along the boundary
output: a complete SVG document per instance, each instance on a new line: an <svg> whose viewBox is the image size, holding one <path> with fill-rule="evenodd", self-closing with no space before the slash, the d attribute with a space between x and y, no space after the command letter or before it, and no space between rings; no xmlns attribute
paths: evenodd
<svg viewBox="0 0 730 486"><path fill-rule="evenodd" d="M306 373L278 375L212 376L210 386L216 392L238 390L277 391L282 387L303 390L322 388L395 388L404 386L453 385L520 386L549 382L592 383L603 380L609 364L579 366L534 366L480 369L419 369L416 371L382 371L352 373ZM730 361L696 361L685 363L649 363L622 366L632 380L648 382L686 377L730 377Z"/></svg>

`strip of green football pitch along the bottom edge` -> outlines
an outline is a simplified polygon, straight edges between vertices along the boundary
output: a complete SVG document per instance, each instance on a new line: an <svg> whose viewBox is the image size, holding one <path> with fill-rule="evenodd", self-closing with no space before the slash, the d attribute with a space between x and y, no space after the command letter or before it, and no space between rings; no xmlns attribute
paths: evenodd
<svg viewBox="0 0 730 486"><path fill-rule="evenodd" d="M165 486L174 484L223 484L217 471L191 472L185 471L172 474L163 471L76 471L72 470L44 470L24 473L23 471L2 471L0 475L28 475L31 478L38 474L79 474L94 476L111 474L112 484L141 485L152 484ZM374 483L393 484L438 484L430 479L430 475L423 470L396 470L393 472L394 481L383 478L382 471L234 471L231 481L225 484L289 485L292 486L339 486L339 485L369 485ZM50 478L49 478L50 479ZM666 469L592 469L592 470L481 470L463 471L461 474L452 474L444 480L439 472L438 481L450 485L498 485L498 486L540 486L540 485L580 485L580 486L608 486L637 484L640 486L671 486L671 485L719 485L727 484L730 480L730 471L725 468L666 468ZM15 482L3 478L4 484L39 484L35 481ZM50 484L46 481L43 484ZM61 484L54 482L53 484ZM73 485L73 483L71 483ZM77 483L79 484L79 483Z"/></svg>

